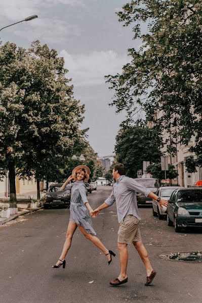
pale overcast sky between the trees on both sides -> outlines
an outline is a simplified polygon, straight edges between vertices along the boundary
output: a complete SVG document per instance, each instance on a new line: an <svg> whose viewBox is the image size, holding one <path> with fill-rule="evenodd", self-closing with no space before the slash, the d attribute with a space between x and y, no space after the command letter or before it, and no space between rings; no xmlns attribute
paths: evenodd
<svg viewBox="0 0 202 303"><path fill-rule="evenodd" d="M110 108L113 92L104 76L121 72L130 59L127 48L138 48L131 28L118 22L115 12L127 0L1 0L0 28L30 15L38 19L22 22L0 32L3 42L29 47L39 40L64 57L72 78L74 96L85 104L82 128L89 127L88 139L99 156L111 155L115 136L124 114ZM140 41L139 41L140 44Z"/></svg>

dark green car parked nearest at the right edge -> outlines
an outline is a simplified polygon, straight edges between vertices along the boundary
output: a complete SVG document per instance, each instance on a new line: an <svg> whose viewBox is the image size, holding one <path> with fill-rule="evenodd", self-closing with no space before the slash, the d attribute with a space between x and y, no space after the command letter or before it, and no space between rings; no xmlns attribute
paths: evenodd
<svg viewBox="0 0 202 303"><path fill-rule="evenodd" d="M185 227L202 227L202 189L176 189L167 209L168 226L179 232Z"/></svg>

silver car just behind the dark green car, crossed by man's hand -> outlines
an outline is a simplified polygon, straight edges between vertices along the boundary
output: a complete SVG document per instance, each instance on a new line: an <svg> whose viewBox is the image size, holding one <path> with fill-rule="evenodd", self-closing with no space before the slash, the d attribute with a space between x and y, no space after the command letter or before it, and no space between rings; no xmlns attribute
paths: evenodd
<svg viewBox="0 0 202 303"><path fill-rule="evenodd" d="M180 186L162 186L158 188L158 190L156 191L156 195L165 200L169 200L171 194L177 188L180 188ZM167 207L163 206L163 208L161 208L159 206L158 201L152 199L152 214L153 216L158 216L159 220L164 219L167 215Z"/></svg>

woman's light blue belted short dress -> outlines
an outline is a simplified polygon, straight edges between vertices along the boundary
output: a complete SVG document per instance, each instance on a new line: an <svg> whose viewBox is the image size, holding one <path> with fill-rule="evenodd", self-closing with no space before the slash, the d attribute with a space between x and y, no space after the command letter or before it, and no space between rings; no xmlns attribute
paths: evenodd
<svg viewBox="0 0 202 303"><path fill-rule="evenodd" d="M73 183L67 184L64 191L71 190L70 201L70 218L69 221L75 222L83 226L87 233L96 235L93 229L91 217L85 203L88 203L86 196L86 186L83 180L76 180Z"/></svg>

